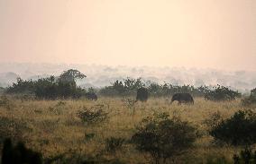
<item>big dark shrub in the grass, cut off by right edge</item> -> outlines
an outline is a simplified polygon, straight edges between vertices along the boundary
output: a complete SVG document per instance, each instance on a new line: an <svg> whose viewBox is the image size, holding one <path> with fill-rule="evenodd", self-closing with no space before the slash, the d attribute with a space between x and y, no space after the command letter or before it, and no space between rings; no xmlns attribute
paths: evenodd
<svg viewBox="0 0 256 164"><path fill-rule="evenodd" d="M251 110L238 111L233 117L215 125L210 134L219 140L233 145L256 142L256 115Z"/></svg>

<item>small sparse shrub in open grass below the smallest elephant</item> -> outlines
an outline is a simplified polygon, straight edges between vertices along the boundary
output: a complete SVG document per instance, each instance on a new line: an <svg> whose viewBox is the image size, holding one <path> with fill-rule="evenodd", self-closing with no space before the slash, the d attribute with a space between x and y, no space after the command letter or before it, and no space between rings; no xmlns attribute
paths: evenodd
<svg viewBox="0 0 256 164"><path fill-rule="evenodd" d="M104 122L107 115L108 113L103 111L100 106L90 109L83 108L83 110L78 111L78 117L87 125Z"/></svg>

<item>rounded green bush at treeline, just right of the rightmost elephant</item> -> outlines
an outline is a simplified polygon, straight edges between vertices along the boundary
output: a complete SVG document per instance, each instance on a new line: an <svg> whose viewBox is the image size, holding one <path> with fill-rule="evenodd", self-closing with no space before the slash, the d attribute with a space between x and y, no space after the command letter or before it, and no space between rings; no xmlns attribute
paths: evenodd
<svg viewBox="0 0 256 164"><path fill-rule="evenodd" d="M207 91L205 94L205 99L207 100L233 100L235 98L241 97L241 93L238 91L232 91L227 87L217 85L214 87L214 91Z"/></svg>

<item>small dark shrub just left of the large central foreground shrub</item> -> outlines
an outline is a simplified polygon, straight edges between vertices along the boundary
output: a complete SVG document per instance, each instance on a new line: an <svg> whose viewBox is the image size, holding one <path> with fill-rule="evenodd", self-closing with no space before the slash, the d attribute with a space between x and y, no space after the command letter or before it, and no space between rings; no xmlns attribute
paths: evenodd
<svg viewBox="0 0 256 164"><path fill-rule="evenodd" d="M123 138L110 137L105 140L105 150L108 152L115 152L120 150L125 140Z"/></svg>

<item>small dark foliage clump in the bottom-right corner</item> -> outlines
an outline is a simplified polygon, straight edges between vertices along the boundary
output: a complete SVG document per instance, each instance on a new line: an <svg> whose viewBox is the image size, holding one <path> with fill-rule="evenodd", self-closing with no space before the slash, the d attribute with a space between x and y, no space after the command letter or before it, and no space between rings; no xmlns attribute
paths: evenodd
<svg viewBox="0 0 256 164"><path fill-rule="evenodd" d="M246 147L240 151L240 154L233 155L234 164L255 164L256 163L256 151L252 152L250 148Z"/></svg>

